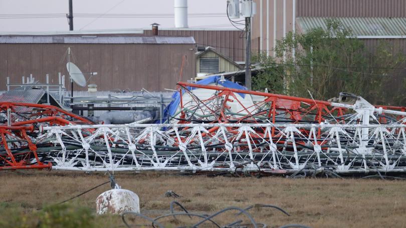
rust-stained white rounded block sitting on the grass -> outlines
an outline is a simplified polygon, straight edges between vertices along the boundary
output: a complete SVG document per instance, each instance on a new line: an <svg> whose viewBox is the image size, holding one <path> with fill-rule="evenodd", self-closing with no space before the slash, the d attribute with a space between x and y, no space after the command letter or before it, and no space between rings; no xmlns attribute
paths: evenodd
<svg viewBox="0 0 406 228"><path fill-rule="evenodd" d="M125 211L139 213L138 195L127 189L105 191L96 198L96 211L98 214L121 214Z"/></svg>

